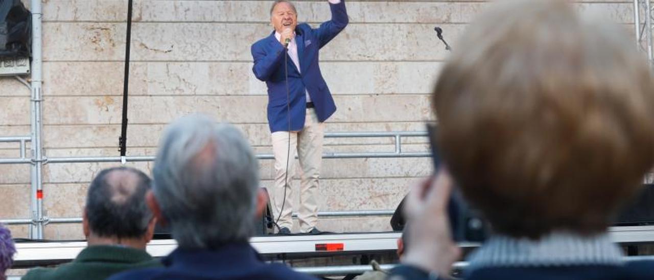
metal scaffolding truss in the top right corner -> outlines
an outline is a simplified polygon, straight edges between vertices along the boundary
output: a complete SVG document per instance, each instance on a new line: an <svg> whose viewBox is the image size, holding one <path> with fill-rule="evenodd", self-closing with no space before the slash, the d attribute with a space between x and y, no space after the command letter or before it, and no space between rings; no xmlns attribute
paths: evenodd
<svg viewBox="0 0 654 280"><path fill-rule="evenodd" d="M652 19L654 13L650 0L634 0L634 30L636 45L647 54L649 65L654 66L654 38L652 37Z"/></svg>

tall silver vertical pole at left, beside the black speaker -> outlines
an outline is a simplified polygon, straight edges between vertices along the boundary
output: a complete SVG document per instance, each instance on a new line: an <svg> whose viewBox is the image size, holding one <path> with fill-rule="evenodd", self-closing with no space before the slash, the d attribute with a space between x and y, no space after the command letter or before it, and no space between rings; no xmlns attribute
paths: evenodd
<svg viewBox="0 0 654 280"><path fill-rule="evenodd" d="M31 215L36 220L30 226L29 236L43 239L43 150L41 145L41 83L43 81L41 0L31 0L32 12L32 67L31 67Z"/></svg>

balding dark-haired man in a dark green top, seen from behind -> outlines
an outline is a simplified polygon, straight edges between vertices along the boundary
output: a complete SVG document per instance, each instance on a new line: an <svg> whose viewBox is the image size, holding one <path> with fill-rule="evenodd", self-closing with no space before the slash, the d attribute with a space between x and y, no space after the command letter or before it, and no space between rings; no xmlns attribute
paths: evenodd
<svg viewBox="0 0 654 280"><path fill-rule="evenodd" d="M156 220L145 202L150 178L138 169L104 169L88 188L82 228L88 247L69 264L34 268L22 279L107 279L135 268L161 266L145 251Z"/></svg>

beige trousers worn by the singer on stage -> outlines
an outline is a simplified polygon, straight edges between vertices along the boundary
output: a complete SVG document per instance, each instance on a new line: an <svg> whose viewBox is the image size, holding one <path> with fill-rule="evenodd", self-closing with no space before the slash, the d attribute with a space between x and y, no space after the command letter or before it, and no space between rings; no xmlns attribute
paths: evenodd
<svg viewBox="0 0 654 280"><path fill-rule="evenodd" d="M290 137L289 137L290 134ZM280 228L291 229L293 188L291 183L295 173L294 159L300 161L300 207L298 220L300 231L309 232L318 224L318 179L322 162L322 139L324 123L318 122L315 109L307 109L304 128L301 131L275 131L271 134L273 154L275 155L275 183L269 193L272 194L273 219L279 217ZM290 149L289 147L290 139ZM288 161L288 168L286 164ZM288 173L288 174L287 174ZM288 177L287 177L288 176ZM286 189L286 196L284 196ZM282 205L284 209L282 210ZM281 211L281 216L279 212Z"/></svg>

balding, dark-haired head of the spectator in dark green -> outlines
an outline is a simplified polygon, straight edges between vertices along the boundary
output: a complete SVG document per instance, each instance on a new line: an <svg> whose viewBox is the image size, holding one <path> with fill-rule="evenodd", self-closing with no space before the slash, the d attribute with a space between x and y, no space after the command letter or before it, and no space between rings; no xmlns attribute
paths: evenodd
<svg viewBox="0 0 654 280"><path fill-rule="evenodd" d="M98 173L86 196L86 219L99 237L141 238L152 211L145 194L150 178L131 167L113 167Z"/></svg>

